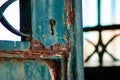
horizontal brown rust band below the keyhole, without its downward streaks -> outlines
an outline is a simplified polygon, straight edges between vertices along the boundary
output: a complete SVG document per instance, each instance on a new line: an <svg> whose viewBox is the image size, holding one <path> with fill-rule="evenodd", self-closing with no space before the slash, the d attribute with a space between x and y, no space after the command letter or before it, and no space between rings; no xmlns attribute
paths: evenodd
<svg viewBox="0 0 120 80"><path fill-rule="evenodd" d="M70 51L69 48L69 41L66 44L59 44L56 43L51 45L49 48L46 48L42 42L39 42L35 39L30 40L30 47L29 50L25 51L0 51L0 56L12 54L13 56L20 55L22 58L40 58L40 57L47 57L47 56L55 56L59 54L60 56L68 53Z"/></svg>

